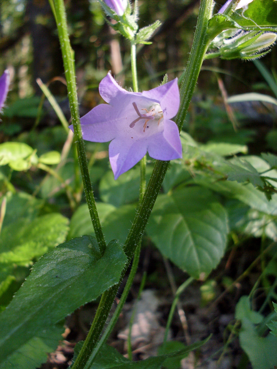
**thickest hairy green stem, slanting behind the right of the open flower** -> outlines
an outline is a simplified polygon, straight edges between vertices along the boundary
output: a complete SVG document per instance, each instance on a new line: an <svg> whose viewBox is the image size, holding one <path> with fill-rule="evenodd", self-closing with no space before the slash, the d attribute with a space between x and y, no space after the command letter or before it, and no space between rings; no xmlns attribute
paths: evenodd
<svg viewBox="0 0 277 369"><path fill-rule="evenodd" d="M61 0L59 0L61 1ZM189 57L188 66L185 71L184 79L181 85L181 107L179 114L177 116L176 123L179 129L181 129L187 111L189 103L194 92L194 88L197 82L197 78L200 72L206 50L208 48L209 40L206 34L209 17L211 15L212 0L201 0L199 8L199 16L196 25L196 31L194 35L194 41L192 44L192 51ZM131 48L134 55L134 48ZM196 53L196 55L192 55ZM153 209L154 203L157 199L158 193L160 192L161 185L165 173L168 168L168 161L156 160L153 173L147 184L146 191L143 196L143 201L140 204L138 211L136 213L135 219L133 221L131 230L124 244L124 252L127 255L128 262L124 270L122 271L121 280L126 273L127 266L130 264L134 252L140 242L141 234L144 232L148 219L150 217L151 211ZM92 326L89 331L89 346L83 348L78 355L72 369L83 369L85 363L88 360L90 354L95 348L99 336L103 330L106 323L106 319L109 315L109 311L112 307L114 297L116 296L118 289L118 284L111 287L109 290L102 294L98 309L96 311L95 318L93 320Z"/></svg>

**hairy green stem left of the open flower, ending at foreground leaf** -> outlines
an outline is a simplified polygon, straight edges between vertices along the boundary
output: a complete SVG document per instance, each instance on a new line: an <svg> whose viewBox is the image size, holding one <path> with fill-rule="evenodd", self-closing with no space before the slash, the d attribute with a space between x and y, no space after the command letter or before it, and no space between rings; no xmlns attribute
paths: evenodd
<svg viewBox="0 0 277 369"><path fill-rule="evenodd" d="M50 1L51 4L51 1ZM64 0L54 0L55 18L57 21L59 42L61 45L62 59L64 62L65 77L68 90L69 106L72 117L72 124L74 128L75 142L77 146L79 165L83 178L83 185L85 190L86 201L88 203L90 218L92 221L95 237L97 239L100 252L103 254L106 249L106 242L103 231L100 225L99 216L96 209L95 199L93 196L92 185L89 178L88 163L86 160L85 144L82 137L82 130L80 124L78 99L76 92L75 68L72 58L72 50L70 46L68 28L66 23L66 14Z"/></svg>

